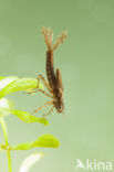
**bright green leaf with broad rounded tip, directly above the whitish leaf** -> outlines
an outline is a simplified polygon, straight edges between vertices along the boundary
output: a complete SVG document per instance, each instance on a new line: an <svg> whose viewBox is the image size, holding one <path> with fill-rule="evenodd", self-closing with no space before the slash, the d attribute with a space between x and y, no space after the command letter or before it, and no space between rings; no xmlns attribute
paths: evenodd
<svg viewBox="0 0 114 172"><path fill-rule="evenodd" d="M15 147L12 147L12 150L29 150L35 147L58 148L59 146L60 146L59 140L52 135L48 133L48 135L41 136L35 141L25 142L25 143L21 143Z"/></svg>

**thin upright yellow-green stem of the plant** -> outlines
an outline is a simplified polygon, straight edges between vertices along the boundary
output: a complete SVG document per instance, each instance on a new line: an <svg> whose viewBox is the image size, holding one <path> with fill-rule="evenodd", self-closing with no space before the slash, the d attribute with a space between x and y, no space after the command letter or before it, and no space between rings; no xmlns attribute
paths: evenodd
<svg viewBox="0 0 114 172"><path fill-rule="evenodd" d="M7 131L7 126L6 126L6 122L4 122L3 118L0 118L0 122L1 122L2 130L3 130L6 147L9 147L8 131ZM9 172L12 172L10 150L7 150L7 157L8 157Z"/></svg>

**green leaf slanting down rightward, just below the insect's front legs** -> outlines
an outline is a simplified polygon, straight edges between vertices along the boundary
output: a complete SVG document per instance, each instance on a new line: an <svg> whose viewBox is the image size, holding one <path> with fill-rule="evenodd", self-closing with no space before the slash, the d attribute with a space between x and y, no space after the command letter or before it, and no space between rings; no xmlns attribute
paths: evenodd
<svg viewBox="0 0 114 172"><path fill-rule="evenodd" d="M27 123L32 123L32 122L40 122L43 123L45 126L49 125L48 120L45 118L39 118L35 117L27 111L22 111L22 110L11 110L11 112L17 116L19 119L21 119L22 121L27 122Z"/></svg>

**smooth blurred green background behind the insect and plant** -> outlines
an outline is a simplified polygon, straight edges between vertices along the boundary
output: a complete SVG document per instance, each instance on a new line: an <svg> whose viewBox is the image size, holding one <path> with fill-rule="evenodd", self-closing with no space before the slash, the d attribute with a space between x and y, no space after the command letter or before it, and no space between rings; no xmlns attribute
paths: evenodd
<svg viewBox="0 0 114 172"><path fill-rule="evenodd" d="M61 147L12 152L13 172L35 151L48 157L31 172L74 172L76 159L111 161L114 165L114 1L0 0L1 76L45 76L43 25L51 26L55 36L64 30L69 33L66 42L54 52L54 65L61 68L64 83L65 117L54 110L48 117L50 126L44 127L10 116L9 141L18 144L52 133ZM49 99L42 94L22 93L7 97L15 108L27 111ZM2 142L1 130L0 136ZM0 172L7 171L3 152Z"/></svg>

